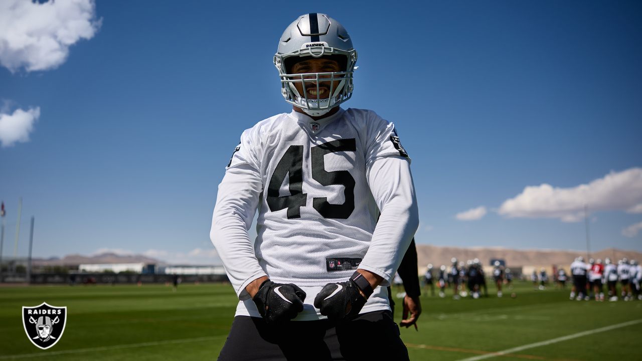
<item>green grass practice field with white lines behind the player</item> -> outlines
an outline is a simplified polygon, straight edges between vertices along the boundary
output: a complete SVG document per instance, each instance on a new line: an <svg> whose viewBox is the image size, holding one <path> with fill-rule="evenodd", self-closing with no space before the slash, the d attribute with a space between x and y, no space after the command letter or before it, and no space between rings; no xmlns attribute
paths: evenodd
<svg viewBox="0 0 642 361"><path fill-rule="evenodd" d="M401 330L411 360L640 359L642 302L569 301L568 290L535 291L517 284L517 297L453 300L421 296L419 331ZM448 294L451 295L450 293ZM22 327L22 306L67 306L60 342L36 348ZM400 304L401 300L397 300ZM0 288L0 360L214 359L225 342L236 297L230 285L30 286ZM399 321L397 310L395 321ZM593 332L627 321L640 321ZM588 331L536 347L503 351ZM490 356L490 357L489 357Z"/></svg>

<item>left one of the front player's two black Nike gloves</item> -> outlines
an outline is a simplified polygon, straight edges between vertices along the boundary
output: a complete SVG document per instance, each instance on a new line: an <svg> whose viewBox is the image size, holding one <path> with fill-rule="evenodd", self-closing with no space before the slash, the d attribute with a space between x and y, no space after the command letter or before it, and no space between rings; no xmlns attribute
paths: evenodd
<svg viewBox="0 0 642 361"><path fill-rule="evenodd" d="M306 292L294 283L273 283L269 279L261 283L252 301L266 322L290 321L303 311Z"/></svg>

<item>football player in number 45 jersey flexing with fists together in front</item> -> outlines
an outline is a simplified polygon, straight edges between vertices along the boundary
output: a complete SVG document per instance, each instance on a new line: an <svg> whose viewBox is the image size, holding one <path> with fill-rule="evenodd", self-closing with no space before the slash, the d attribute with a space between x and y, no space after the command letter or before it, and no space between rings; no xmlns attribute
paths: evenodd
<svg viewBox="0 0 642 361"><path fill-rule="evenodd" d="M419 224L410 159L393 123L340 107L356 60L322 13L279 40L293 110L243 132L214 207L211 239L239 297L220 360L408 360L385 287Z"/></svg>

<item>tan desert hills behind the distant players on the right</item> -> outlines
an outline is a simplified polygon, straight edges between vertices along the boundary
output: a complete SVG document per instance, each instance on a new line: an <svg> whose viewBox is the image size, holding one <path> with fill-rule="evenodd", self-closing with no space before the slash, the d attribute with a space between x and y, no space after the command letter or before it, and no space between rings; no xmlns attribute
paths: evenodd
<svg viewBox="0 0 642 361"><path fill-rule="evenodd" d="M577 256L587 258L586 251L571 251L557 249L508 249L501 247L439 247L435 245L417 245L417 258L419 269L425 270L428 263L438 269L440 265L451 265L451 258L456 257L458 261L473 260L479 258L482 265L490 266L491 259L502 259L508 267L524 266L568 266ZM617 261L623 257L629 260L642 261L642 253L635 251L623 251L621 249L603 249L602 251L591 252L592 258L611 258Z"/></svg>

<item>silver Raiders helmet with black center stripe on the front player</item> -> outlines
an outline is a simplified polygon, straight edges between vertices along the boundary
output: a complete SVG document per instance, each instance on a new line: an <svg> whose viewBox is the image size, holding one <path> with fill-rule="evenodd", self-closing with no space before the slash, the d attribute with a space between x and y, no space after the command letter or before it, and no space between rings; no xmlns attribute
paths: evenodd
<svg viewBox="0 0 642 361"><path fill-rule="evenodd" d="M303 57L345 57L345 69L333 73L291 74L290 66ZM285 101L304 110L310 116L322 116L352 96L352 74L357 52L343 26L324 13L307 13L293 21L281 35L274 55L274 66L281 77L281 94ZM342 62L343 63L343 62ZM340 63L340 64L342 64ZM334 82L339 84L333 89ZM329 82L327 98L320 97L321 82ZM302 84L299 94L295 84ZM316 87L317 99L308 98L306 87Z"/></svg>

